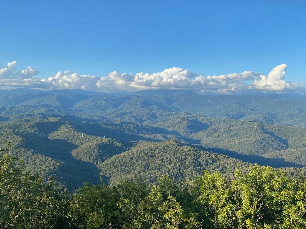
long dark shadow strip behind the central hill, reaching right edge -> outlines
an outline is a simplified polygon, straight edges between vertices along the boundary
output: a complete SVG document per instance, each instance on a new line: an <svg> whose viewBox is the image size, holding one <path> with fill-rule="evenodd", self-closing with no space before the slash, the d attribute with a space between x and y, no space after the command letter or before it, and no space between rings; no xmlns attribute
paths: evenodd
<svg viewBox="0 0 306 229"><path fill-rule="evenodd" d="M280 168L280 167L298 167L298 168L303 168L306 167L306 165L300 165L296 164L294 162L286 162L284 158L265 158L263 156L259 155L244 155L244 154L238 154L234 151L230 150L224 150L221 148L205 148L205 147L199 147L200 149L203 149L205 151L211 151L214 153L220 153L220 154L226 154L232 158L239 159L243 162L249 162L253 164L258 164L258 165L268 165L271 167L275 168Z"/></svg>

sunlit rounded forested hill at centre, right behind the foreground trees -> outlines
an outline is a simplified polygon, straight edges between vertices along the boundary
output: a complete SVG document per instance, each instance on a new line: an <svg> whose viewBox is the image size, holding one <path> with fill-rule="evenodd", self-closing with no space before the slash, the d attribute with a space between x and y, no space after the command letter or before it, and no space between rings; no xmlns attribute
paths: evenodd
<svg viewBox="0 0 306 229"><path fill-rule="evenodd" d="M174 140L160 143L139 142L124 153L118 154L99 165L103 177L111 185L125 178L140 177L149 183L159 176L174 180L191 179L204 170L233 174L235 169L246 169L247 163L222 154L201 151Z"/></svg>

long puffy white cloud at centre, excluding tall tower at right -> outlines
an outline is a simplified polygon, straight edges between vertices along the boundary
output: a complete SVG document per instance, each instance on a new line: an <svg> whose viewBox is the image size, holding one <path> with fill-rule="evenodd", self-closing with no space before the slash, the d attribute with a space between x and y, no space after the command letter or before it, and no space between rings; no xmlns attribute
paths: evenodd
<svg viewBox="0 0 306 229"><path fill-rule="evenodd" d="M259 78L260 74L252 71L228 75L207 76L192 73L186 69L172 67L159 73L137 73L128 75L111 72L108 77L97 83L99 89L140 90L140 89L196 89L196 90L234 90L246 89L244 81Z"/></svg>

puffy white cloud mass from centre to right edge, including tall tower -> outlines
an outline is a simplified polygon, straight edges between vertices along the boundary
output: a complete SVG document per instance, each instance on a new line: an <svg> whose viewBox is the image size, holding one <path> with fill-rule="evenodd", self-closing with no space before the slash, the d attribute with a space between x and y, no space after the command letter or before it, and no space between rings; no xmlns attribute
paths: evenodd
<svg viewBox="0 0 306 229"><path fill-rule="evenodd" d="M239 93L245 91L264 92L305 92L298 83L286 82L284 75L287 65L281 64L265 75L244 71L224 75L201 75L186 69L173 67L159 73L137 73L128 75L114 71L97 82L98 90L141 90L141 89L189 89L202 92ZM249 83L253 81L252 83Z"/></svg>

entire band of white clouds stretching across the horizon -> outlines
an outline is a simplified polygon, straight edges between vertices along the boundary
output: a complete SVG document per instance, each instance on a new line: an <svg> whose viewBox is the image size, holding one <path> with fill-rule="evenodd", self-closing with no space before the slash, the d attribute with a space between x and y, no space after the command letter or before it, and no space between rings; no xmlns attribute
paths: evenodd
<svg viewBox="0 0 306 229"><path fill-rule="evenodd" d="M0 87L28 87L34 89L84 89L100 92L137 91L144 89L188 89L210 93L275 92L306 93L299 83L285 81L286 64L272 69L268 76L254 71L209 75L193 73L180 67L168 68L158 73L135 75L111 72L108 76L80 75L59 71L49 78L35 78L34 67L16 72L16 61L0 68Z"/></svg>

